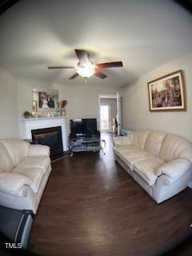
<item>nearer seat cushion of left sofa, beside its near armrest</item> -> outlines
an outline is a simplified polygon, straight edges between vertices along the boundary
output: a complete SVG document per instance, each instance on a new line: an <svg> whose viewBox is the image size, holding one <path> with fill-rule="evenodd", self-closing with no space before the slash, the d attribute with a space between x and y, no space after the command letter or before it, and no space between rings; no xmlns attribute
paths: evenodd
<svg viewBox="0 0 192 256"><path fill-rule="evenodd" d="M42 168L26 167L26 168L14 168L13 174L22 174L30 178L31 184L30 187L34 193L38 193L39 187L42 183L42 178L45 173Z"/></svg>

